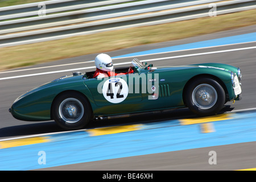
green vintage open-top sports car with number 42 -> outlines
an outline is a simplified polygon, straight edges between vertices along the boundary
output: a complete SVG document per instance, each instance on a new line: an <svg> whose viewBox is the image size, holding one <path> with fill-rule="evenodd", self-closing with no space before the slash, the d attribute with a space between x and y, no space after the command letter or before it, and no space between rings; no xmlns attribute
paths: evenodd
<svg viewBox="0 0 256 182"><path fill-rule="evenodd" d="M188 107L198 115L217 114L228 101L241 100L241 70L207 63L153 67L131 61L115 72L134 73L98 80L94 72L73 73L18 97L9 109L23 121L55 122L77 130L98 118L129 116L146 111Z"/></svg>

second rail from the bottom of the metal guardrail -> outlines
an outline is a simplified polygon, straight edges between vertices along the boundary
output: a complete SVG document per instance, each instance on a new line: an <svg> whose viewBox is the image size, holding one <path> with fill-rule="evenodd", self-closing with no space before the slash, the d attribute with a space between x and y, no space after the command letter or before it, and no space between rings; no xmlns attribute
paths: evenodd
<svg viewBox="0 0 256 182"><path fill-rule="evenodd" d="M154 11L162 11L168 9L175 9L191 5L200 5L209 1L195 1L187 3L177 3L168 5L167 0L155 1L142 1L133 2L121 5L112 5L107 7L96 7L93 9L72 11L67 13L51 14L47 16L35 16L32 18L24 18L18 20L9 20L0 23L0 34L8 34L18 31L35 30L39 28L47 28L54 26L64 26L66 24L74 24L81 22L90 22L94 20L116 18L120 16L136 15L143 13L150 13ZM210 1L216 2L216 1ZM154 3L154 7L152 3ZM145 5L150 5L146 7ZM1 17L0 17L1 18Z"/></svg>

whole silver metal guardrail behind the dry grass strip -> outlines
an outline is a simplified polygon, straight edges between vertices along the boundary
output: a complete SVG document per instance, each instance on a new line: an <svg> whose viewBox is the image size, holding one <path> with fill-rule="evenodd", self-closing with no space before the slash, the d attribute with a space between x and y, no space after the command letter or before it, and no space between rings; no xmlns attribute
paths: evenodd
<svg viewBox="0 0 256 182"><path fill-rule="evenodd" d="M80 5L75 4L77 2L76 0L68 0L65 1L66 4L64 3L68 6L61 7L64 4L60 1L46 1L52 8L48 9L48 5L46 5L45 16L38 16L38 11L35 12L34 10L21 11L35 5L38 7L39 3L30 3L27 7L26 5L13 6L14 9L11 7L0 8L0 20L3 20L0 22L0 47L205 17L209 16L208 13L211 8L209 3L216 5L217 15L256 9L255 0L146 0L135 2L110 0L94 1L94 3L79 1L82 3ZM85 7L86 9L84 9ZM63 12L67 10L69 11ZM3 11L7 15L1 16ZM10 12L16 13L10 14ZM31 15L35 16L24 18ZM20 19L6 20L7 17Z"/></svg>

